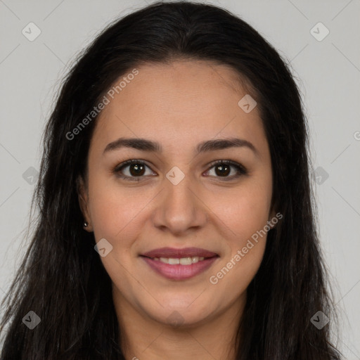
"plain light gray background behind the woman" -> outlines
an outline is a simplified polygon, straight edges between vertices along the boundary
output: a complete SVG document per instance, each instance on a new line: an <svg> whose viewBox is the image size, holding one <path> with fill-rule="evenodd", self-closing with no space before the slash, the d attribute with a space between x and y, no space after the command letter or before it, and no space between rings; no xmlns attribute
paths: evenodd
<svg viewBox="0 0 360 360"><path fill-rule="evenodd" d="M39 144L60 79L105 25L150 2L0 0L0 300L27 245ZM240 15L293 68L309 119L321 245L341 319L340 348L346 359L360 359L360 1L207 2ZM31 22L41 30L33 41L22 33L35 34L34 25L27 26ZM319 22L329 30L323 39L326 29Z"/></svg>

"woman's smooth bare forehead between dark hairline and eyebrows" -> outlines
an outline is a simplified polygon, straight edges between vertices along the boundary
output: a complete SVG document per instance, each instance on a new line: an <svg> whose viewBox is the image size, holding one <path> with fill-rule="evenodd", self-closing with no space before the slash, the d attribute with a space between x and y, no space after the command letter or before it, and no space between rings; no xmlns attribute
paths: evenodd
<svg viewBox="0 0 360 360"><path fill-rule="evenodd" d="M257 108L245 113L239 107L247 92L229 66L178 60L136 70L136 76L127 78L112 96L106 95L109 103L98 117L94 145L103 146L120 136L157 139L165 147L217 136L238 134L252 141L264 136ZM114 86L124 77L127 74Z"/></svg>

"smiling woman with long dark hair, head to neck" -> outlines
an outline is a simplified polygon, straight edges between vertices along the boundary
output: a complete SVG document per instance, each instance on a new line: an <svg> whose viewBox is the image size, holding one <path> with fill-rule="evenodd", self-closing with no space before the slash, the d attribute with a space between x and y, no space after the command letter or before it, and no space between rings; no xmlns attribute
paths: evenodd
<svg viewBox="0 0 360 360"><path fill-rule="evenodd" d="M157 3L73 66L1 359L340 359L293 77L215 6Z"/></svg>

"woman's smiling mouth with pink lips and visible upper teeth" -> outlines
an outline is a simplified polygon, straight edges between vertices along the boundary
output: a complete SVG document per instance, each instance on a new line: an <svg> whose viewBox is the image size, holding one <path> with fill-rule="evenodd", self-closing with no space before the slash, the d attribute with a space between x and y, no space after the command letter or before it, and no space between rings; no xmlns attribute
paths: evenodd
<svg viewBox="0 0 360 360"><path fill-rule="evenodd" d="M140 257L157 274L179 281L203 273L217 261L219 255L200 248L161 248L146 252Z"/></svg>

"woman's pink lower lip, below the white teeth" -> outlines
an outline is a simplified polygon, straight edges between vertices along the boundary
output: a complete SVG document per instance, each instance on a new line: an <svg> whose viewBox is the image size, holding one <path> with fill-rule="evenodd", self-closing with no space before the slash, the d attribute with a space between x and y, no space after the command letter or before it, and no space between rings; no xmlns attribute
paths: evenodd
<svg viewBox="0 0 360 360"><path fill-rule="evenodd" d="M192 278L203 271L207 270L213 262L215 262L219 257L210 257L204 259L200 262L195 262L191 265L169 265L165 262L160 262L160 260L153 260L149 257L141 256L148 265L155 270L158 274L165 276L165 278L170 278L172 280L186 280L187 278Z"/></svg>

